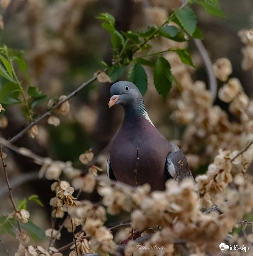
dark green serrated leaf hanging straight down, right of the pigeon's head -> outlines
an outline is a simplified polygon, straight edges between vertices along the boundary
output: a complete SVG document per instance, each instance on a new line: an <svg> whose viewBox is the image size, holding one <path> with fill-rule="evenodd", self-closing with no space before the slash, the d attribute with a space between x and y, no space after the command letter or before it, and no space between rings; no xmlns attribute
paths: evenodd
<svg viewBox="0 0 253 256"><path fill-rule="evenodd" d="M170 63L163 57L159 57L156 60L154 84L157 92L162 95L165 100L172 86L172 75Z"/></svg>

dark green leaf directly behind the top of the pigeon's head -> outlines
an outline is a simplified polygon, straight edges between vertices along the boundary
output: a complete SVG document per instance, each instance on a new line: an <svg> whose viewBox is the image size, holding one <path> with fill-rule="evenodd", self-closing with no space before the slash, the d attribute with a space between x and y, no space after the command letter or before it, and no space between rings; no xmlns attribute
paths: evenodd
<svg viewBox="0 0 253 256"><path fill-rule="evenodd" d="M135 63L130 66L127 79L136 85L142 95L146 93L148 89L148 77L141 64Z"/></svg>

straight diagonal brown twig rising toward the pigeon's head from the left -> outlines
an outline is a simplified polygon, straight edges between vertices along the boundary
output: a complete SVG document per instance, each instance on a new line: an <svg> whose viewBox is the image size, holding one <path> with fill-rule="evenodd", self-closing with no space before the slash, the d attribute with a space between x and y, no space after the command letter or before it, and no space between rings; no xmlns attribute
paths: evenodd
<svg viewBox="0 0 253 256"><path fill-rule="evenodd" d="M38 117L37 119L35 119L34 122L31 122L27 127L25 127L24 129L22 129L22 131L20 131L17 135L15 135L14 137L12 137L7 144L12 143L14 141L16 141L17 139L21 138L24 134L26 134L35 124L38 124L40 121L42 121L43 119L45 119L46 117L49 117L52 112L54 110L56 110L56 108L59 108L60 105L62 105L65 101L69 100L70 98L72 98L73 96L75 96L79 91L81 91L83 88L87 87L87 85L91 84L92 82L96 81L97 77L92 77L90 78L87 82L84 82L82 85L80 85L76 90L74 90L73 92L71 92L69 95L67 95L67 97L58 102L56 105L54 105L51 110L45 112L41 117Z"/></svg>

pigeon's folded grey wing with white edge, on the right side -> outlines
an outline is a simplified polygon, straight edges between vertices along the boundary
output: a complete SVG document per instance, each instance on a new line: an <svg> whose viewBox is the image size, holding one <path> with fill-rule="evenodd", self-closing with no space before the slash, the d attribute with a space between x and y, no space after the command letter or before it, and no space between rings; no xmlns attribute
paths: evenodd
<svg viewBox="0 0 253 256"><path fill-rule="evenodd" d="M167 175L169 178L173 178L178 181L181 181L185 177L193 179L193 175L188 168L186 156L177 145L172 145L174 150L167 155L165 162L165 171Z"/></svg>

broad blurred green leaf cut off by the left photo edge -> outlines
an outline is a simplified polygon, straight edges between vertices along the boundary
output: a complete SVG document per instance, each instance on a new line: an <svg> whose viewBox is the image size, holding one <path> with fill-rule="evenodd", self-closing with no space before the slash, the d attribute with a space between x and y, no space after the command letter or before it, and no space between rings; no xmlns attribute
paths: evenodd
<svg viewBox="0 0 253 256"><path fill-rule="evenodd" d="M20 100L20 89L14 82L6 82L6 84L0 85L0 102L1 104L18 104Z"/></svg>

